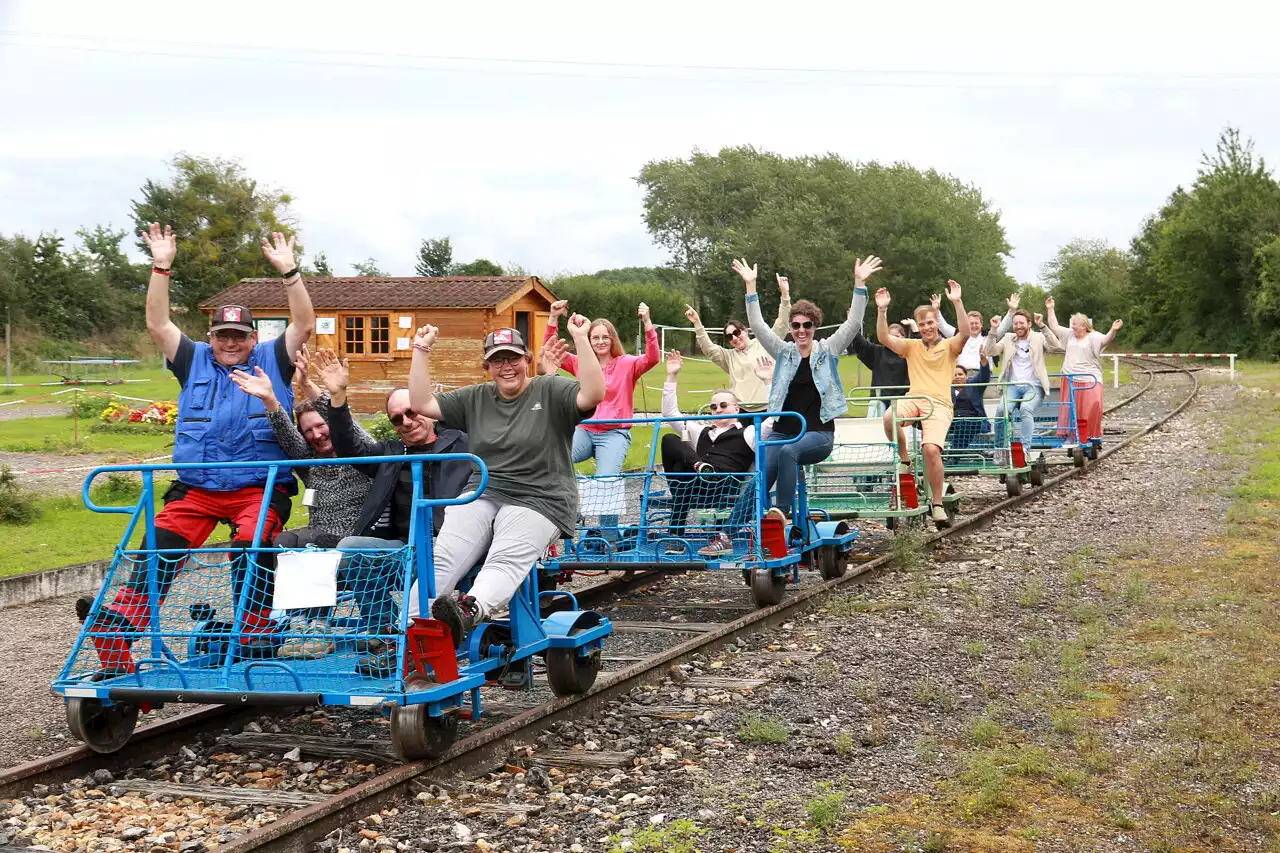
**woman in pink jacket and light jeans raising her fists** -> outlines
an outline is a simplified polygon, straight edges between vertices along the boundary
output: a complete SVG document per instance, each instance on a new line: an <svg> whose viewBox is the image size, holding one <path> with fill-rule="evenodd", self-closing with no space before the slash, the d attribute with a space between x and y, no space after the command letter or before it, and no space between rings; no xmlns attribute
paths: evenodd
<svg viewBox="0 0 1280 853"><path fill-rule="evenodd" d="M550 316L547 318L547 332L543 345L556 337L561 315L568 310L567 300L552 302ZM658 351L658 330L649 319L649 306L641 302L636 314L644 320L644 355L625 355L618 330L605 319L591 320L588 343L590 348L576 347L579 355L566 355L561 365L572 375L579 375L580 356L591 352L604 371L604 401L595 410L595 420L627 420L636 414L636 383L662 357ZM595 475L612 476L622 473L622 462L631 450L631 429L608 424L586 424L573 430L573 464L595 457ZM618 516L600 516L600 535L604 539L618 538Z"/></svg>

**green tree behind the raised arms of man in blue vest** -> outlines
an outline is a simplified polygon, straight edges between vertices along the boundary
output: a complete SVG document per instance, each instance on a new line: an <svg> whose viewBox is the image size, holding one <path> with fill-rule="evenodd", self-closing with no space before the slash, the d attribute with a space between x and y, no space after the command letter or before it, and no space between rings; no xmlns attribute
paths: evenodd
<svg viewBox="0 0 1280 853"><path fill-rule="evenodd" d="M172 298L195 311L201 300L241 278L274 275L262 257L270 232L294 233L292 197L265 190L234 161L179 154L168 182L147 181L133 201L134 232L150 223L173 225L178 260ZM146 245L138 240L138 247Z"/></svg>

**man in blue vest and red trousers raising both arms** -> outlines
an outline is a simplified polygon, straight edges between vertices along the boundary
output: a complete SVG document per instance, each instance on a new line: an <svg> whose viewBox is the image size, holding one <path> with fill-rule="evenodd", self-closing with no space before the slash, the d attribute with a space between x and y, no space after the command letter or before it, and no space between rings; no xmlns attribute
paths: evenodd
<svg viewBox="0 0 1280 853"><path fill-rule="evenodd" d="M262 240L262 254L284 278L289 302L289 325L284 334L268 343L257 342L253 316L241 305L219 306L209 328L209 342L196 342L183 334L169 318L169 277L178 252L173 228L161 231L156 223L143 241L151 250L152 270L147 286L147 332L164 352L165 366L178 379L178 424L174 433L174 462L276 461L287 456L275 441L266 409L257 397L242 393L232 374L243 370L271 379L275 397L285 410L293 409L293 359L315 329L311 296L302 284L293 257L294 238L271 234ZM239 594L247 578L248 606L242 617L243 642L252 644L255 635L271 629L269 615L274 596L275 555L252 555L253 530L262 501L268 501L262 544L269 546L289 517L291 498L297 483L283 474L270 496L265 496L266 469L191 469L179 471L178 479L164 494L164 508L156 515L156 548L187 551L200 548L219 521L232 528L232 594ZM155 576L159 597L164 601L186 555L160 556ZM77 615L83 620L92 599L77 602ZM146 562L137 565L128 580L116 590L110 605L102 608L93 629L118 631L138 630L148 624L148 576ZM99 660L108 670L132 671L132 640L120 637L95 637Z"/></svg>

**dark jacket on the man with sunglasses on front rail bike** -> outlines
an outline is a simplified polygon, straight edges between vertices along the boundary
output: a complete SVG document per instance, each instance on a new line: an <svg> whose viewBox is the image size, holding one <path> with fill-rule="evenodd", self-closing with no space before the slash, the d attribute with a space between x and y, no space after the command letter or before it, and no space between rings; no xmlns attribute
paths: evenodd
<svg viewBox="0 0 1280 853"><path fill-rule="evenodd" d="M351 420L348 406L334 406L329 410L329 438L338 456L404 456L404 442L372 442L361 438L356 433L355 423ZM467 434L457 429L435 430L435 447L433 453L466 453ZM369 487L365 497L365 506L360 510L360 519L352 535L374 535L374 525L383 516L383 511L396 493L396 480L399 478L403 462L383 462L380 465L356 465L374 482ZM422 484L424 497L453 498L466 491L467 480L471 479L471 465L468 462L428 462L424 466L426 483ZM434 533L440 532L444 524L444 511L436 507L431 512L431 526Z"/></svg>

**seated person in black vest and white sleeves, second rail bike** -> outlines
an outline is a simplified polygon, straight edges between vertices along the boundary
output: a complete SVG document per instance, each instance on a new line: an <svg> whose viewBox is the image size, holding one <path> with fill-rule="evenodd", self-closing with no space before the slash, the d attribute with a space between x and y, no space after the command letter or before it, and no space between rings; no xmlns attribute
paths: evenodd
<svg viewBox="0 0 1280 853"><path fill-rule="evenodd" d="M667 355L667 382L662 387L662 416L684 418L676 400L677 378L685 360L680 350ZM773 379L773 359L760 356L755 365L765 391ZM742 487L742 474L755 466L755 425L744 425L736 418L742 411L737 394L728 389L712 393L710 414L717 420L673 420L667 424L673 433L664 433L662 470L671 492L669 535L685 535L689 511L710 506ZM760 438L768 438L773 419L760 424ZM717 537L723 537L718 533Z"/></svg>

